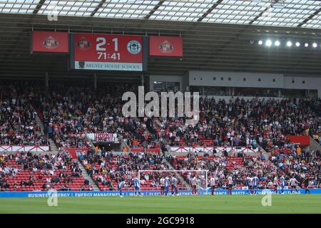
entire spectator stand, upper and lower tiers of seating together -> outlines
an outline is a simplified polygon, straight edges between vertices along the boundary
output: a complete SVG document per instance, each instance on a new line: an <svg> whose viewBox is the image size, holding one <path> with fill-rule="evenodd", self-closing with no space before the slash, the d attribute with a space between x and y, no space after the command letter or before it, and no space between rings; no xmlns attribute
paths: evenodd
<svg viewBox="0 0 321 228"><path fill-rule="evenodd" d="M77 163L63 152L70 148L83 149L76 156L99 190L117 190L121 180L127 183L124 190L133 190L131 180L138 170L170 169L163 163L163 156L175 170L209 170L209 175L217 178L217 187L223 189L229 175L233 175L235 187L239 188L247 186L247 178L253 175L258 175L258 187L262 189L274 187L273 180L279 175L285 175L287 180L295 177L300 182L308 176L310 187L320 187L320 151L309 147L302 150L287 137L307 135L316 139L315 135L320 135L320 99L200 98L200 121L191 126L185 124L185 118L123 117L121 94L135 90L128 83L106 83L97 90L58 82L52 82L49 90L41 85L35 89L30 81L6 81L4 85L1 145L49 145L53 140L60 152L56 157L19 150L15 157L4 154L0 170L3 191L43 191L49 187L93 190L83 185ZM36 115L41 117L39 125ZM99 143L92 149L88 133L116 133L131 151L123 147L126 150L119 148L123 154L113 154L115 147L106 149ZM250 147L259 148L260 153L231 154L223 149L181 155L173 152L173 147ZM49 166L44 165L47 162ZM60 162L66 163L63 168ZM61 173L63 178L59 177ZM161 176L151 173L142 177L141 189L160 190ZM179 180L178 187L187 190L192 175L186 172L182 177L188 185Z"/></svg>

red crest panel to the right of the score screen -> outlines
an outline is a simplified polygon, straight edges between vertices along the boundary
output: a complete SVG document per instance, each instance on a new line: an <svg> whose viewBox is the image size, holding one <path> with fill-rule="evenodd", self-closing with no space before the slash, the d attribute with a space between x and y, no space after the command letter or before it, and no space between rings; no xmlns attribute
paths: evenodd
<svg viewBox="0 0 321 228"><path fill-rule="evenodd" d="M149 55L183 57L183 38L178 36L149 36Z"/></svg>

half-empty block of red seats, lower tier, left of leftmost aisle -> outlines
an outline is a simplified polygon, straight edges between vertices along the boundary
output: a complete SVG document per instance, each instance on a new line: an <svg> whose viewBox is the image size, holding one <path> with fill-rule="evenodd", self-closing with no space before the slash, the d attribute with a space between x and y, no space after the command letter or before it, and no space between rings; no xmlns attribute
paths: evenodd
<svg viewBox="0 0 321 228"><path fill-rule="evenodd" d="M26 189L68 191L93 190L93 187L88 180L83 180L78 163L68 152L58 152L57 155L36 155L32 152L1 155L0 190Z"/></svg>

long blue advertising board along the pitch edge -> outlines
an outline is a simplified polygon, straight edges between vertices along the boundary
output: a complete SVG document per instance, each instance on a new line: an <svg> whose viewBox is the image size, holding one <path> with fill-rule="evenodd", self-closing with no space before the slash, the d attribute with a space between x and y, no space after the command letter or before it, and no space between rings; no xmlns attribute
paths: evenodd
<svg viewBox="0 0 321 228"><path fill-rule="evenodd" d="M273 190L257 190L260 195L272 194ZM310 189L311 194L321 194L321 189ZM149 195L161 195L160 191L141 191L145 196ZM200 192L204 194L205 192ZM281 190L278 191L281 193ZM291 190L284 190L285 194L290 194ZM300 189L298 194L304 194L305 190ZM233 190L232 195L247 195L248 190ZM135 195L134 191L123 191L125 196ZM178 195L192 195L191 190L178 190ZM208 195L210 195L210 188L208 188ZM228 195L228 190L215 190L214 195ZM29 197L29 198L41 198L41 197L52 197L52 192L0 192L0 198L9 198L9 197ZM57 197L112 197L119 196L118 191L61 191L56 193Z"/></svg>

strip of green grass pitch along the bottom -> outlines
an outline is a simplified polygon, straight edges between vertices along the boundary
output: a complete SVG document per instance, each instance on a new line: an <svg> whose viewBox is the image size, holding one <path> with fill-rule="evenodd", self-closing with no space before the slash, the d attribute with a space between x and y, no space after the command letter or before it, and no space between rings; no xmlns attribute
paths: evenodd
<svg viewBox="0 0 321 228"><path fill-rule="evenodd" d="M59 197L57 207L47 198L0 198L0 213L321 213L321 195L204 195L178 197Z"/></svg>

